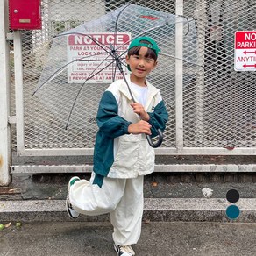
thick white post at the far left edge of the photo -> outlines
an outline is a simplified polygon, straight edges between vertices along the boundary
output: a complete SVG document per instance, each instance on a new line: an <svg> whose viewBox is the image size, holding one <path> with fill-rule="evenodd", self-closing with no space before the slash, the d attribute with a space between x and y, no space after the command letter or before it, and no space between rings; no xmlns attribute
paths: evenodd
<svg viewBox="0 0 256 256"><path fill-rule="evenodd" d="M6 40L9 27L8 1L0 1L0 186L11 182L11 125L10 116L10 49Z"/></svg>

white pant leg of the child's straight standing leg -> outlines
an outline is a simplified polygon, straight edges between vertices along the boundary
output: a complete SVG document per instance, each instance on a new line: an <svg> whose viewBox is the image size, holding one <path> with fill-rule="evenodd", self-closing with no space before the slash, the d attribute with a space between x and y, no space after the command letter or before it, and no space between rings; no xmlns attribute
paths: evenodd
<svg viewBox="0 0 256 256"><path fill-rule="evenodd" d="M139 240L144 208L143 181L144 176L127 179L124 196L110 212L113 240L117 245L133 245Z"/></svg>

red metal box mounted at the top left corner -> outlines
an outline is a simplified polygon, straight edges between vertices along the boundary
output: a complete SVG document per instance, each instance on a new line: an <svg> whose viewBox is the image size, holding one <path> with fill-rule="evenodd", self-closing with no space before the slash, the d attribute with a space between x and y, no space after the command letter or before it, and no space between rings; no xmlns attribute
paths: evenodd
<svg viewBox="0 0 256 256"><path fill-rule="evenodd" d="M9 18L12 30L41 29L41 0L9 0Z"/></svg>

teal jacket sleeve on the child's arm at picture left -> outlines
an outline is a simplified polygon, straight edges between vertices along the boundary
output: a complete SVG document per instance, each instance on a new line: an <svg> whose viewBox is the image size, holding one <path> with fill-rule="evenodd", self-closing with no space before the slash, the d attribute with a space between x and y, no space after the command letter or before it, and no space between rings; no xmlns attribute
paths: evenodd
<svg viewBox="0 0 256 256"><path fill-rule="evenodd" d="M117 100L110 91L103 93L96 119L99 131L110 138L128 134L128 126L132 124L118 116Z"/></svg>

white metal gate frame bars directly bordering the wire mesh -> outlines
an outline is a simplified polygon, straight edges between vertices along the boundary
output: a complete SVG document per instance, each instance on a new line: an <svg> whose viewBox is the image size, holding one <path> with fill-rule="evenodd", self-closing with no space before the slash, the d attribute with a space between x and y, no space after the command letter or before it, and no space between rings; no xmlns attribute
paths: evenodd
<svg viewBox="0 0 256 256"><path fill-rule="evenodd" d="M199 1L199 0L197 0ZM198 2L197 2L198 3ZM201 2L200 2L201 3ZM176 29L175 29L175 124L176 145L175 147L160 147L155 149L158 155L255 155L256 148L238 147L232 150L224 147L184 147L183 146L183 0L176 0ZM204 1L205 4L205 1ZM204 11L205 11L204 6ZM204 22L204 20L202 21ZM203 24L199 29L204 29ZM22 39L19 31L13 32L14 40L14 67L15 67L15 91L16 91L16 117L17 117L17 153L19 156L63 156L63 155L93 155L93 148L51 148L51 149L26 149L24 127L24 98L23 98L23 66L22 66ZM200 35L199 40L204 41ZM202 44L203 45L203 44ZM203 61L203 55L201 56ZM203 80L198 82L196 92L197 103L202 102ZM198 106L201 108L202 106ZM203 125L203 120L198 120ZM201 126L197 132L203 132Z"/></svg>

